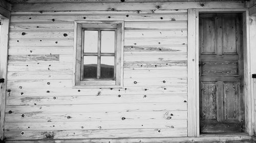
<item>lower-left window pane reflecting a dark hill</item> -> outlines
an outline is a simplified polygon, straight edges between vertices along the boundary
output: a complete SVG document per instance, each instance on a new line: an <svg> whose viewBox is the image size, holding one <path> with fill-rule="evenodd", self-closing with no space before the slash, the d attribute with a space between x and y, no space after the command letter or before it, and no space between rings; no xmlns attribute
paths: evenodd
<svg viewBox="0 0 256 143"><path fill-rule="evenodd" d="M83 56L83 78L97 78L97 56Z"/></svg>

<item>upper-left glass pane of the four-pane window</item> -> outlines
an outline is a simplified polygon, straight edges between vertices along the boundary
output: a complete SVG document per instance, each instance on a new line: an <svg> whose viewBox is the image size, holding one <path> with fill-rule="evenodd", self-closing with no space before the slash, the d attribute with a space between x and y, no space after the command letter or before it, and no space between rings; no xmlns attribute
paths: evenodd
<svg viewBox="0 0 256 143"><path fill-rule="evenodd" d="M84 52L98 52L98 31L84 31Z"/></svg>

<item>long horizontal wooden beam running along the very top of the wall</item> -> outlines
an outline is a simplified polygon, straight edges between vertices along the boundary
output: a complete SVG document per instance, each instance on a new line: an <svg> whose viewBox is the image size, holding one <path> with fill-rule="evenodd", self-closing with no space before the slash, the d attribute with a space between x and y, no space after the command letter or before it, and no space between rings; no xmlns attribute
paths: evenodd
<svg viewBox="0 0 256 143"><path fill-rule="evenodd" d="M170 10L170 9L247 8L244 1L238 2L168 2L168 3L53 3L14 4L12 11L120 11L120 10Z"/></svg>

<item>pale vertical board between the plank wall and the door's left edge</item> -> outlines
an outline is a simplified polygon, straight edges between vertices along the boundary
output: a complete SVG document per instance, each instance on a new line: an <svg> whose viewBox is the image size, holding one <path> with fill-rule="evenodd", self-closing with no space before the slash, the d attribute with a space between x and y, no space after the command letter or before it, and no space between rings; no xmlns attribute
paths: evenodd
<svg viewBox="0 0 256 143"><path fill-rule="evenodd" d="M187 128L188 136L197 136L196 86L196 9L188 9L187 18Z"/></svg>

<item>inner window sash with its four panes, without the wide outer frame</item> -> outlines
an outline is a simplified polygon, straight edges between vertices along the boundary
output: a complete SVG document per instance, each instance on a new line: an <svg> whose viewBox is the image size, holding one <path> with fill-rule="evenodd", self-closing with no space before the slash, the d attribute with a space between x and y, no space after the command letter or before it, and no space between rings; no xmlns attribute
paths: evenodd
<svg viewBox="0 0 256 143"><path fill-rule="evenodd" d="M115 80L116 28L82 30L81 80Z"/></svg>

